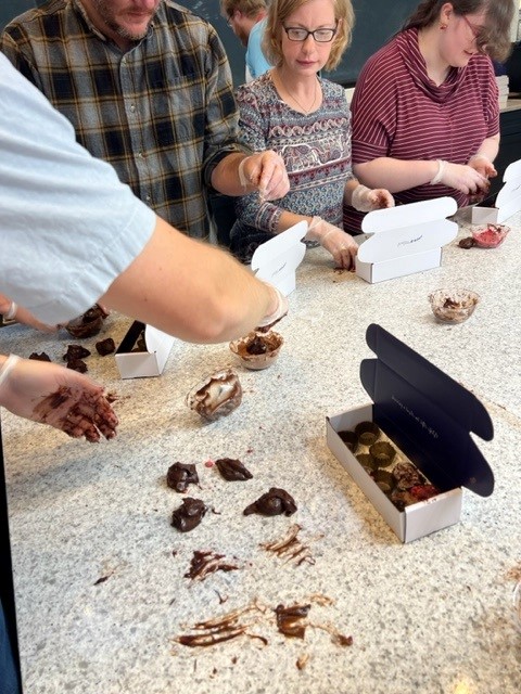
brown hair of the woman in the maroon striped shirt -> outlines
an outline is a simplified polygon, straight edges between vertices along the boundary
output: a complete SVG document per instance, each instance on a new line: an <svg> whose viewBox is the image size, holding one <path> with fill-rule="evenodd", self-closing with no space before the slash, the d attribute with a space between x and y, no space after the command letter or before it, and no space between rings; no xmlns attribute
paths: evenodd
<svg viewBox="0 0 521 694"><path fill-rule="evenodd" d="M404 29L424 29L440 21L445 0L424 0L404 24ZM485 13L485 27L476 36L478 49L493 60L503 62L512 48L510 27L513 20L512 0L453 0L454 14Z"/></svg>

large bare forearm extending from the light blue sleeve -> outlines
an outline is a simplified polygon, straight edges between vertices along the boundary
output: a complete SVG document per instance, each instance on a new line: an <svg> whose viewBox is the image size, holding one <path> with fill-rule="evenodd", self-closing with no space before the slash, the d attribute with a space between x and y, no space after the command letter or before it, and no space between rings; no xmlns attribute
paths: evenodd
<svg viewBox="0 0 521 694"><path fill-rule="evenodd" d="M100 300L181 339L219 343L258 325L278 297L228 253L157 218L151 241Z"/></svg>

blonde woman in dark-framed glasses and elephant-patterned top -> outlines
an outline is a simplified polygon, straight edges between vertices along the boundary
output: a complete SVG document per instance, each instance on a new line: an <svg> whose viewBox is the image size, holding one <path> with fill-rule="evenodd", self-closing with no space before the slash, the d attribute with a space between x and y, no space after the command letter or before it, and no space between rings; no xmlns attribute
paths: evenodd
<svg viewBox="0 0 521 694"><path fill-rule="evenodd" d="M350 110L344 88L318 76L334 68L350 43L351 0L274 0L263 50L274 68L239 88L240 129L253 151L269 147L284 160L290 191L281 200L238 198L230 248L249 262L256 247L298 221L306 239L327 248L338 267L353 269L354 239L342 228L343 201L369 211L394 204L369 190L351 168Z"/></svg>

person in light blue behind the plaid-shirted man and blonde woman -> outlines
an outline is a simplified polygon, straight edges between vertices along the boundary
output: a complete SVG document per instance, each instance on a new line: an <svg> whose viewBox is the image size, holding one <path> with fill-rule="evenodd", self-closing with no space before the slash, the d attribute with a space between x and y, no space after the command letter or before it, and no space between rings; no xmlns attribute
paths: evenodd
<svg viewBox="0 0 521 694"><path fill-rule="evenodd" d="M267 11L266 0L220 0L223 16L246 49L246 82L271 67L262 47Z"/></svg>

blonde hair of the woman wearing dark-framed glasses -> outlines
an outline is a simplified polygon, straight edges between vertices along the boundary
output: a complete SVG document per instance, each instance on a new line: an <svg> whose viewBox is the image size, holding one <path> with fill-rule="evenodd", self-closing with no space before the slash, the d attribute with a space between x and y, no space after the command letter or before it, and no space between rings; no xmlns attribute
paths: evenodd
<svg viewBox="0 0 521 694"><path fill-rule="evenodd" d="M283 61L282 53L282 31L283 25L289 16L296 12L309 0L271 0L269 5L266 29L263 37L263 52L266 60L271 65L279 66ZM336 34L332 40L331 53L323 69L334 69L345 49L351 43L353 26L355 24L355 13L351 0L332 0L334 18L338 22Z"/></svg>

